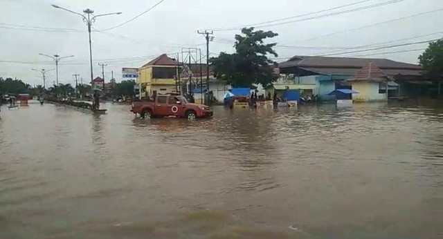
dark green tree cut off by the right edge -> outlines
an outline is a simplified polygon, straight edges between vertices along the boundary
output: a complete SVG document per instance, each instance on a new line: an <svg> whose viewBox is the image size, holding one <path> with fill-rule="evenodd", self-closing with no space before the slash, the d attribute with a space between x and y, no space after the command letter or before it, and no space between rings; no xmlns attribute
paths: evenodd
<svg viewBox="0 0 443 239"><path fill-rule="evenodd" d="M438 77L443 75L443 40L429 43L428 48L418 57L426 75Z"/></svg>

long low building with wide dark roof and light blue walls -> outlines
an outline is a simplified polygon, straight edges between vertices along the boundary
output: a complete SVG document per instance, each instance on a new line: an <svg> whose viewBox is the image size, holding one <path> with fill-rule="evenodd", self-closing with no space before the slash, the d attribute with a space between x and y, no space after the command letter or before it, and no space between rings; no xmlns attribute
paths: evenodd
<svg viewBox="0 0 443 239"><path fill-rule="evenodd" d="M333 90L337 88L352 88L352 83L347 81L347 79L356 75L361 68L368 66L370 62L373 62L381 70L381 73L396 79L397 84L400 84L398 87L395 82L390 82L390 86L388 86L389 97L410 95L413 94L416 88L429 84L422 77L422 68L416 64L392 61L390 59L295 56L288 61L278 64L280 73L287 76L287 82L275 84L275 86L281 88L285 87L285 83L291 82L289 84L291 89L311 90L320 99L330 99L333 96L328 94ZM386 90L383 87L386 86L380 84L378 90Z"/></svg>

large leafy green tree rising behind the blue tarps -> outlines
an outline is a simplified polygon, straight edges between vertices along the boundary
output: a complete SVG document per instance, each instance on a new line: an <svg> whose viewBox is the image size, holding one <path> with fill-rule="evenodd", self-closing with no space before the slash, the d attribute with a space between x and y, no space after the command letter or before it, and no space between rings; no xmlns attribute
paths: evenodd
<svg viewBox="0 0 443 239"><path fill-rule="evenodd" d="M278 36L271 31L243 28L241 35L235 35L235 53L220 52L210 59L215 76L233 87L251 87L262 84L266 87L277 79L273 74L273 61L269 55L278 57L273 47L264 40Z"/></svg>

